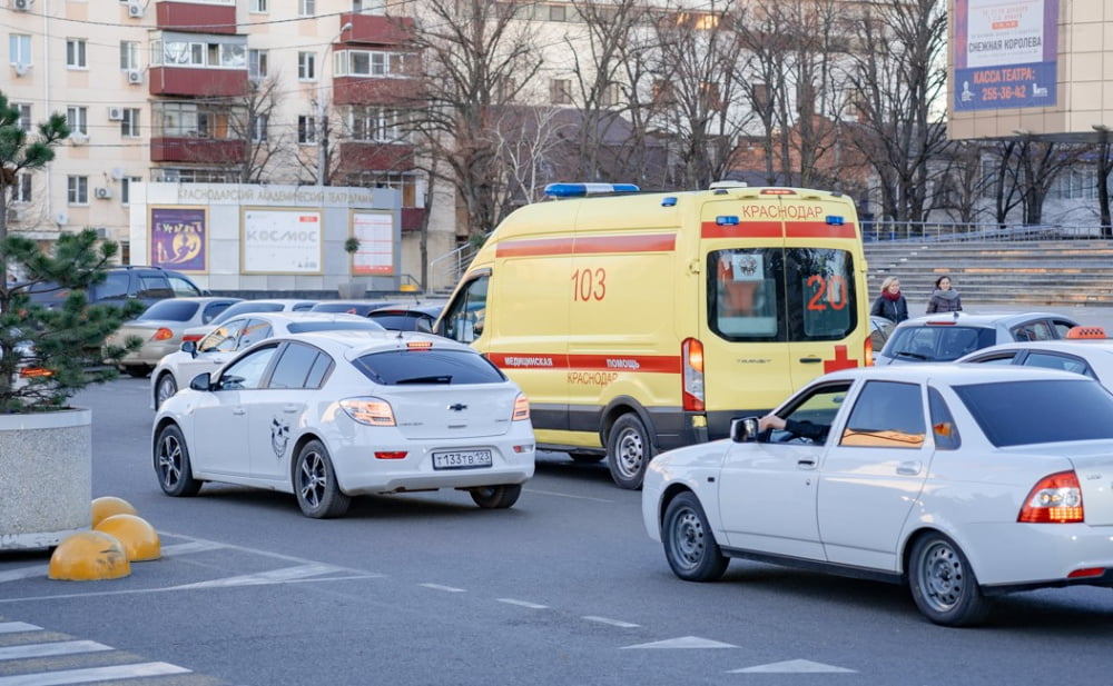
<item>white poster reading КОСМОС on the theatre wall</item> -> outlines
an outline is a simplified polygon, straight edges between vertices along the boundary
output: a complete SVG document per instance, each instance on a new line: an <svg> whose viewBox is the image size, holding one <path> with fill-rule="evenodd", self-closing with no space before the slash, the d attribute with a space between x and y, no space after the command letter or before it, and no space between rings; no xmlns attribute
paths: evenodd
<svg viewBox="0 0 1113 686"><path fill-rule="evenodd" d="M243 211L243 274L322 274L319 209L252 207Z"/></svg>

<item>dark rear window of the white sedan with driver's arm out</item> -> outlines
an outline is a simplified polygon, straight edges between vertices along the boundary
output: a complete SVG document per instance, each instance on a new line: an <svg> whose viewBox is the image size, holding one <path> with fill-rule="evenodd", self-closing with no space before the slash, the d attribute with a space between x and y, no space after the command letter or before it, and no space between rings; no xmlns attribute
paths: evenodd
<svg viewBox="0 0 1113 686"><path fill-rule="evenodd" d="M969 384L955 392L998 448L1113 438L1113 395L1096 381Z"/></svg>

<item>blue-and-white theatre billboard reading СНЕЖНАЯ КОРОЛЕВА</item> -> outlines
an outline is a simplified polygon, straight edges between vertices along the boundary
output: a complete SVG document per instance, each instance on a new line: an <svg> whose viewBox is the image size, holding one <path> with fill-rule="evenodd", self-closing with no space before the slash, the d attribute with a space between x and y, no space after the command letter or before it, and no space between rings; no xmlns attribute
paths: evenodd
<svg viewBox="0 0 1113 686"><path fill-rule="evenodd" d="M1058 0L955 0L954 111L1055 105Z"/></svg>

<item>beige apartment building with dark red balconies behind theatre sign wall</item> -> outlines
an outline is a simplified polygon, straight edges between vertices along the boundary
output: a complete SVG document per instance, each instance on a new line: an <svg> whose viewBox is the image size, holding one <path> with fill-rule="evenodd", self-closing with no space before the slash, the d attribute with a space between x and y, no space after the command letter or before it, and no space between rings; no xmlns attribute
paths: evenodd
<svg viewBox="0 0 1113 686"><path fill-rule="evenodd" d="M429 185L392 102L413 20L384 0L0 0L0 90L21 126L60 112L71 129L48 169L17 180L10 230L49 243L90 227L141 262L136 183L388 187L403 271L421 274ZM456 245L452 202L432 203L430 256Z"/></svg>

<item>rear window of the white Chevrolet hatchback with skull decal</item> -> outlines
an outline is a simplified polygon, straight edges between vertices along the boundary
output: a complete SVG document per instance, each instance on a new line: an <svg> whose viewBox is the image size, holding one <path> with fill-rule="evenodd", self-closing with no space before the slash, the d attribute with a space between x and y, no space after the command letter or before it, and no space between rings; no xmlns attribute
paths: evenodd
<svg viewBox="0 0 1113 686"><path fill-rule="evenodd" d="M372 352L353 365L375 384L502 384L499 368L467 350L390 350Z"/></svg>

